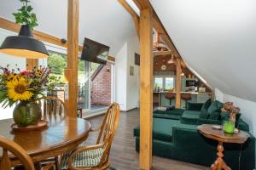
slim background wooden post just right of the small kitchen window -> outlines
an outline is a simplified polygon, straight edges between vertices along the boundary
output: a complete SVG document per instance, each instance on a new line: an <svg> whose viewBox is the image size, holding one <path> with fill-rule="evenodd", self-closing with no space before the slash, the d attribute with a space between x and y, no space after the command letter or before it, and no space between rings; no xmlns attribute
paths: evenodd
<svg viewBox="0 0 256 170"><path fill-rule="evenodd" d="M177 65L176 65L176 105L175 107L177 109L181 108L181 76L180 74L182 73L182 69L181 69L181 60L177 59Z"/></svg>

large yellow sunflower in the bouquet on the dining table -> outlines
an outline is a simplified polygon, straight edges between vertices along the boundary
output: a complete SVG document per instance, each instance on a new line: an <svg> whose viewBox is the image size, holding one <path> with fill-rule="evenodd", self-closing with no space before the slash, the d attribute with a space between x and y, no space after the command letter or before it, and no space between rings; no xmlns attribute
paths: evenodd
<svg viewBox="0 0 256 170"><path fill-rule="evenodd" d="M7 82L9 99L14 101L28 100L32 98L32 93L27 91L29 82L24 77L15 77Z"/></svg>

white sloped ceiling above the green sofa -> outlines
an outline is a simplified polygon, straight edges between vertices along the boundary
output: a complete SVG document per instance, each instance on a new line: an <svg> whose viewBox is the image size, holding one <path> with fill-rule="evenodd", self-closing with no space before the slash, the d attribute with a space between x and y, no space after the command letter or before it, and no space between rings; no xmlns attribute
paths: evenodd
<svg viewBox="0 0 256 170"><path fill-rule="evenodd" d="M213 88L256 101L256 1L150 0L183 59Z"/></svg>

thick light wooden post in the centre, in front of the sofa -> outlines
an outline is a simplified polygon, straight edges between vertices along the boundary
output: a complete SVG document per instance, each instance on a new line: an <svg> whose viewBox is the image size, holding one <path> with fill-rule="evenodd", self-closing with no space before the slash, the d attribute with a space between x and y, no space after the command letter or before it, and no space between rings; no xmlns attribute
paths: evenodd
<svg viewBox="0 0 256 170"><path fill-rule="evenodd" d="M140 17L140 168L152 165L153 54L152 13L141 10Z"/></svg>

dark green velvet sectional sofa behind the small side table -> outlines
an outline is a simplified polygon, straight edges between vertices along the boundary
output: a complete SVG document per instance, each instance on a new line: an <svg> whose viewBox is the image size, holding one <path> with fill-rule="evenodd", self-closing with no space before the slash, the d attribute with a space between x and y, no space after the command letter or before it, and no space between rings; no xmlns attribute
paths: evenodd
<svg viewBox="0 0 256 170"><path fill-rule="evenodd" d="M207 103L207 102L206 102ZM193 104L189 104L193 105ZM215 105L215 106L214 106ZM207 139L197 131L200 124L221 124L224 116L220 114L222 104L218 101L201 105L200 108L188 110L172 119L170 112L155 112L153 121L153 154L187 161L210 167L217 158L217 141ZM195 108L195 107L194 107ZM210 112L210 113L209 113ZM218 114L217 114L218 112ZM158 115L155 115L155 114ZM164 114L164 117L157 117ZM212 114L212 116L211 116ZM174 115L178 115L177 112ZM207 116L206 116L207 115ZM210 118L211 117L211 118ZM240 118L236 127L249 131L246 122ZM139 127L134 129L136 150L139 151ZM240 156L241 154L241 156ZM240 157L240 162L239 162ZM224 144L224 161L233 169L253 170L255 168L255 139L251 136L245 144Z"/></svg>

